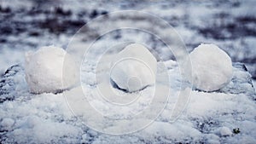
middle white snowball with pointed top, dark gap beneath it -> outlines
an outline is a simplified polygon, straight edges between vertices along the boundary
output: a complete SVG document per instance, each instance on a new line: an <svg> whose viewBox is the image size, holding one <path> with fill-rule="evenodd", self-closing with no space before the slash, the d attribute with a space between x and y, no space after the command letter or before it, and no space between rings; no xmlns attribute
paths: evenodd
<svg viewBox="0 0 256 144"><path fill-rule="evenodd" d="M134 92L155 83L156 59L147 48L133 43L115 56L110 78L120 89Z"/></svg>

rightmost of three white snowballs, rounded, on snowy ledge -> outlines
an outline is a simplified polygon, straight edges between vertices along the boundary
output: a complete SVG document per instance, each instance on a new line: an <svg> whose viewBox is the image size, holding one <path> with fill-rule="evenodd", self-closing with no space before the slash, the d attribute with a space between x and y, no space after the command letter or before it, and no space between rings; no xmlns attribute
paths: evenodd
<svg viewBox="0 0 256 144"><path fill-rule="evenodd" d="M230 56L214 44L201 44L190 53L195 88L213 91L230 83L233 67Z"/></svg>

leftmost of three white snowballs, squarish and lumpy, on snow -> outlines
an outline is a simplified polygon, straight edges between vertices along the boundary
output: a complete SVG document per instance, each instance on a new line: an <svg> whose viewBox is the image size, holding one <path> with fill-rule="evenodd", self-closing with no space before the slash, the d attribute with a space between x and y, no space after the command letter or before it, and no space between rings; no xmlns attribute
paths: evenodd
<svg viewBox="0 0 256 144"><path fill-rule="evenodd" d="M55 93L72 87L77 82L76 70L75 62L64 49L48 46L26 53L26 82L32 93Z"/></svg>

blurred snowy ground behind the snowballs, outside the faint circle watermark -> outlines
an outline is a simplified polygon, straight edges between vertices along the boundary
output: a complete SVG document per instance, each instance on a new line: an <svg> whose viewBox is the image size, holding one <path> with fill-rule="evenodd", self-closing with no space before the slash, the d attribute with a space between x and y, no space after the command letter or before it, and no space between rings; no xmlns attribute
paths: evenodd
<svg viewBox="0 0 256 144"><path fill-rule="evenodd" d="M256 79L255 5L255 0L0 0L0 74L22 63L28 50L52 44L66 49L73 34L99 15L132 9L168 21L189 51L200 43L217 44Z"/></svg>

